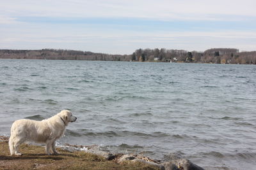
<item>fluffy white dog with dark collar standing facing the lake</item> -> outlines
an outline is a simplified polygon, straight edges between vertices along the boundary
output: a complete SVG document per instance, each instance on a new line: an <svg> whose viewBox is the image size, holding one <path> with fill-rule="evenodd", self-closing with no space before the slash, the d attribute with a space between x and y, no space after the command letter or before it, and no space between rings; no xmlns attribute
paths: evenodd
<svg viewBox="0 0 256 170"><path fill-rule="evenodd" d="M75 122L76 117L68 110L63 110L51 118L42 121L20 119L12 124L9 148L11 155L22 155L19 145L25 141L45 143L48 155L57 154L55 141L63 136L69 122Z"/></svg>

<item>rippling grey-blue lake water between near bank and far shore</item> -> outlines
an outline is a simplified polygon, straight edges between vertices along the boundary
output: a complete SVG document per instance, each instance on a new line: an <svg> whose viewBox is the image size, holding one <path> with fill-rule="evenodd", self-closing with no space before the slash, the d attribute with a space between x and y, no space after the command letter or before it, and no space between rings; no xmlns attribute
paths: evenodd
<svg viewBox="0 0 256 170"><path fill-rule="evenodd" d="M58 143L256 169L256 66L0 60L0 134L71 110Z"/></svg>

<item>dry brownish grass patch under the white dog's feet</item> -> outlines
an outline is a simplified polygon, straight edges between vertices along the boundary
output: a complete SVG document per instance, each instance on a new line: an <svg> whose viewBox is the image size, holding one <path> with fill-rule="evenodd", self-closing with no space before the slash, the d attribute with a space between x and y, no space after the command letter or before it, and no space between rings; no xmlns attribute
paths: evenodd
<svg viewBox="0 0 256 170"><path fill-rule="evenodd" d="M141 162L117 164L92 153L57 150L59 155L46 155L42 146L23 144L24 155L10 156L8 142L0 141L0 169L157 169Z"/></svg>

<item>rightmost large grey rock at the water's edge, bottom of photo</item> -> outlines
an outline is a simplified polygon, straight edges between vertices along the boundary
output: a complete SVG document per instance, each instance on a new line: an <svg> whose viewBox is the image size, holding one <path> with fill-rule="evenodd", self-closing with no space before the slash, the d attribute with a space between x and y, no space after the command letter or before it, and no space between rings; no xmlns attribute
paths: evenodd
<svg viewBox="0 0 256 170"><path fill-rule="evenodd" d="M204 168L193 164L188 159L175 159L162 164L166 170L204 170Z"/></svg>

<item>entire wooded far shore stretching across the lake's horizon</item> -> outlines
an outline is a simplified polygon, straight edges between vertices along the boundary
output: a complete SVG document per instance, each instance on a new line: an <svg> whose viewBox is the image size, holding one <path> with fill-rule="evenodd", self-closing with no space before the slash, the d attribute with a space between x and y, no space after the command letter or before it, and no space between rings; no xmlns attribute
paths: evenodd
<svg viewBox="0 0 256 170"><path fill-rule="evenodd" d="M239 52L236 48L212 48L205 52L138 49L131 55L83 52L77 50L0 50L1 59L106 60L138 62L201 62L216 64L256 64L256 52Z"/></svg>

